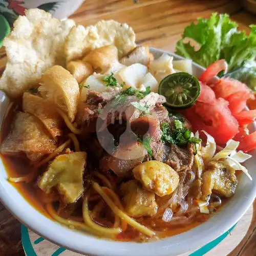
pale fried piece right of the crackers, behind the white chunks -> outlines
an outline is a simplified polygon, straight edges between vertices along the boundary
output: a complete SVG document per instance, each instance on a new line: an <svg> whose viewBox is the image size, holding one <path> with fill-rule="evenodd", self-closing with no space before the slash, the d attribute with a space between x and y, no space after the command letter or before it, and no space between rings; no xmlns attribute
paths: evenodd
<svg viewBox="0 0 256 256"><path fill-rule="evenodd" d="M120 63L125 66L130 66L135 63L140 63L144 66L150 65L150 62L154 59L154 56L150 53L150 49L147 46L138 46L127 56L120 59Z"/></svg>

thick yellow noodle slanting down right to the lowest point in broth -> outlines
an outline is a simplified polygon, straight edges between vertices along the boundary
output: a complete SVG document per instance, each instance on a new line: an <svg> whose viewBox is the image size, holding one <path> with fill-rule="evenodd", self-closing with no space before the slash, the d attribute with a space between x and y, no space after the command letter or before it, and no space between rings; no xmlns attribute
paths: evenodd
<svg viewBox="0 0 256 256"><path fill-rule="evenodd" d="M153 230L148 229L147 227L141 225L140 223L138 223L137 221L135 221L134 219L132 219L131 217L129 217L128 215L125 214L125 212L123 212L122 210L120 210L115 203L110 199L110 197L108 195L106 195L106 193L103 191L103 189L99 186L98 183L93 182L92 183L93 188L99 193L99 195L104 199L104 201L106 202L106 204L109 205L109 207L114 211L114 214L116 214L117 216L119 216L122 220L124 220L125 222L127 222L128 224L130 224L132 227L134 227L135 229L138 229L140 232L146 234L146 236L148 237L153 237L155 235L155 232Z"/></svg>

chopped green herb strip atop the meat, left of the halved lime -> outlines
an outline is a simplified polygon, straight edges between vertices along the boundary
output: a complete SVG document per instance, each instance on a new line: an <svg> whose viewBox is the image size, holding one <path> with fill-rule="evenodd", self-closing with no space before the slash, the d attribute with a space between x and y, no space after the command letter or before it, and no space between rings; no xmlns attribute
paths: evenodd
<svg viewBox="0 0 256 256"><path fill-rule="evenodd" d="M139 92L134 90L132 87L129 87L123 90L120 94L116 95L111 103L112 108L117 108L119 105L123 104L128 96L137 96L137 98L144 98L147 94L150 94L151 90L150 87L146 87L145 92Z"/></svg>

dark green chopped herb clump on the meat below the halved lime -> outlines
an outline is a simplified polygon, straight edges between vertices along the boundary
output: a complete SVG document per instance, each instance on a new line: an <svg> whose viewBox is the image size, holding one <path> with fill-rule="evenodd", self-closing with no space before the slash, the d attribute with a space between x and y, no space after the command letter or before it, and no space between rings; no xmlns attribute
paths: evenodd
<svg viewBox="0 0 256 256"><path fill-rule="evenodd" d="M162 137L161 140L164 143L177 144L177 145L187 145L187 143L195 144L196 152L197 147L196 144L201 142L201 139L191 136L191 132L188 129L184 128L184 123L180 120L174 120L174 126L170 127L169 123L162 122L161 130Z"/></svg>

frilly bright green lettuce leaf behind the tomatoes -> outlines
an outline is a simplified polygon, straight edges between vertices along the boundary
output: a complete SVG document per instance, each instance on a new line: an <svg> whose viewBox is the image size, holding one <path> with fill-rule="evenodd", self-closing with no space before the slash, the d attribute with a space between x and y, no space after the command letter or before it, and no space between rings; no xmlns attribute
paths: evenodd
<svg viewBox="0 0 256 256"><path fill-rule="evenodd" d="M193 59L203 67L208 67L218 59L228 62L229 70L241 66L251 66L256 57L256 25L251 25L247 36L238 30L238 25L227 14L213 13L209 19L198 18L198 23L191 23L177 42L176 53ZM189 38L196 41L199 50L185 43Z"/></svg>

